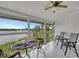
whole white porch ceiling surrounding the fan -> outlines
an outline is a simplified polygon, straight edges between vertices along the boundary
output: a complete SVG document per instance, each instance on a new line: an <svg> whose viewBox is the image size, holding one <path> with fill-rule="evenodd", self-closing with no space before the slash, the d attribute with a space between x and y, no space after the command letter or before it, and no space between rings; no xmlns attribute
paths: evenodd
<svg viewBox="0 0 79 59"><path fill-rule="evenodd" d="M56 13L53 13L53 8L45 11L44 7L47 5L48 1L9 1L9 2L0 2L0 6L20 11L22 13L30 14L39 18L43 18L46 20L55 20L54 17L58 17L57 15L65 15L67 13L72 12L71 8L74 8L73 6L78 5L78 2L63 2L62 4L68 5L67 9L64 8L56 8Z"/></svg>

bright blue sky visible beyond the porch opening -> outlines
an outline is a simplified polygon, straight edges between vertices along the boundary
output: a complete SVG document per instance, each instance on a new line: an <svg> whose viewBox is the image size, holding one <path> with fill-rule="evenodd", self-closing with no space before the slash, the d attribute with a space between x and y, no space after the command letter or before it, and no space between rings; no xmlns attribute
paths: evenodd
<svg viewBox="0 0 79 59"><path fill-rule="evenodd" d="M16 21L8 18L0 18L0 29L25 29L28 28L28 23L24 21ZM30 28L34 28L36 23L31 23Z"/></svg>

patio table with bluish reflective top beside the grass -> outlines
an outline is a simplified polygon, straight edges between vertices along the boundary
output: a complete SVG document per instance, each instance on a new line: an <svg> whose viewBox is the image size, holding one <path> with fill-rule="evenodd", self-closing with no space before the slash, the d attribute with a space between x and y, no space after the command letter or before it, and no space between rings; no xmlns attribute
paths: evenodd
<svg viewBox="0 0 79 59"><path fill-rule="evenodd" d="M12 50L26 50L26 55L30 58L30 55L28 54L27 50L28 50L28 48L32 48L37 44L38 43L36 41L29 41L27 43L22 43L22 44L13 44Z"/></svg>

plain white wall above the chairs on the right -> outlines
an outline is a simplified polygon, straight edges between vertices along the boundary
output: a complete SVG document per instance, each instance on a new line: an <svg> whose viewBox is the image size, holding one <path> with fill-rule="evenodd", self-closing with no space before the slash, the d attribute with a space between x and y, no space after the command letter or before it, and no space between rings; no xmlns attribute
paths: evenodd
<svg viewBox="0 0 79 59"><path fill-rule="evenodd" d="M79 2L66 2L66 5L68 8L61 8L54 14L55 34L61 31L79 33Z"/></svg>

